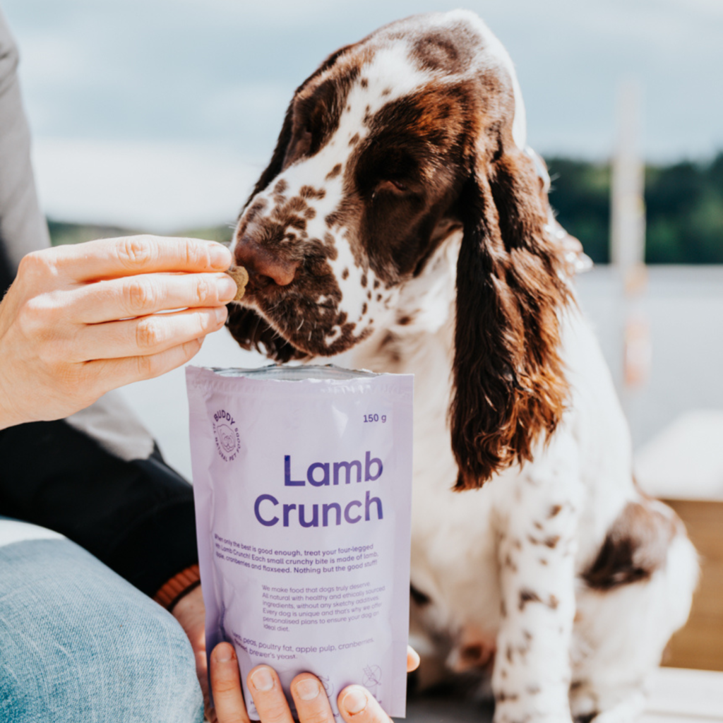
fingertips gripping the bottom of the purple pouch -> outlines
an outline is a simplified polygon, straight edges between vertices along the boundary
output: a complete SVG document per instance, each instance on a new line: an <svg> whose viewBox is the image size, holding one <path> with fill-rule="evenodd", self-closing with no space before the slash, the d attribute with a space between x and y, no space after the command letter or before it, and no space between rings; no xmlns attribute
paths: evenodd
<svg viewBox="0 0 723 723"><path fill-rule="evenodd" d="M407 671L419 666L419 656L408 648ZM273 668L257 665L247 678L254 705L262 723L294 723L291 709L281 689L281 681ZM241 693L241 676L236 651L231 643L218 643L211 654L211 688L215 711L209 716L213 723L249 723ZM291 681L300 723L334 723L324 686L311 673L300 673ZM348 685L337 698L339 712L346 723L390 723L390 717L361 685Z"/></svg>

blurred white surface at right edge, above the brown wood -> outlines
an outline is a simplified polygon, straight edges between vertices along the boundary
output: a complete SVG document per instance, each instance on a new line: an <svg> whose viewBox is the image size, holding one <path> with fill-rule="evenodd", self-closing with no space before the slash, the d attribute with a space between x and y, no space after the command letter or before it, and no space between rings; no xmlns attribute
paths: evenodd
<svg viewBox="0 0 723 723"><path fill-rule="evenodd" d="M654 497L723 500L723 411L681 415L638 450L635 469Z"/></svg>

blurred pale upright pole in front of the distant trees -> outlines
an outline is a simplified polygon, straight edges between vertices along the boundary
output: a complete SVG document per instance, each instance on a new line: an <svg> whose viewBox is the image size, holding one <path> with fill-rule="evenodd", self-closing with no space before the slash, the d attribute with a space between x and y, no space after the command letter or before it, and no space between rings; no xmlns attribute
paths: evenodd
<svg viewBox="0 0 723 723"><path fill-rule="evenodd" d="M628 392L650 375L650 326L642 301L645 266L645 165L640 149L641 89L635 80L620 83L617 144L612 163L610 258L623 288L623 404Z"/></svg>

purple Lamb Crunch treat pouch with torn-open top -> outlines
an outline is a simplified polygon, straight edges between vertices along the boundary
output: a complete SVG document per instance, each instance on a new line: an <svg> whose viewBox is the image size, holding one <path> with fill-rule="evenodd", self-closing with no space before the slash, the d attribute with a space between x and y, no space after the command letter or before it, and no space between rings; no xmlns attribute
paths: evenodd
<svg viewBox="0 0 723 723"><path fill-rule="evenodd" d="M246 686L308 671L334 715L361 683L404 716L411 375L337 367L187 368L208 652L234 644ZM292 703L293 705L293 703Z"/></svg>

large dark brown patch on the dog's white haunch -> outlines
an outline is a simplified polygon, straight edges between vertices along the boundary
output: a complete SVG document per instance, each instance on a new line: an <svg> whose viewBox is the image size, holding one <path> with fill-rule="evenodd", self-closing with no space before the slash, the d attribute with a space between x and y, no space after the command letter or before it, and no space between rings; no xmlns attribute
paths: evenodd
<svg viewBox="0 0 723 723"><path fill-rule="evenodd" d="M612 590L648 580L662 568L670 541L682 523L672 510L668 516L654 504L650 500L628 502L617 516L596 560L583 573L590 588Z"/></svg>

